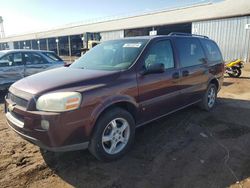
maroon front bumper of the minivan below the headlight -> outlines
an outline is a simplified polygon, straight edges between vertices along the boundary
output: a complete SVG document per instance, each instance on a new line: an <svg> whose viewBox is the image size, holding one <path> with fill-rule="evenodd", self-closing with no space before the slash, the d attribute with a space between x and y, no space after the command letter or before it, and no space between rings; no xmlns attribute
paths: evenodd
<svg viewBox="0 0 250 188"><path fill-rule="evenodd" d="M8 125L22 138L48 151L64 152L88 148L89 131L84 120L75 120L74 113L27 111L5 99ZM76 112L77 113L77 112ZM41 121L49 122L49 129Z"/></svg>

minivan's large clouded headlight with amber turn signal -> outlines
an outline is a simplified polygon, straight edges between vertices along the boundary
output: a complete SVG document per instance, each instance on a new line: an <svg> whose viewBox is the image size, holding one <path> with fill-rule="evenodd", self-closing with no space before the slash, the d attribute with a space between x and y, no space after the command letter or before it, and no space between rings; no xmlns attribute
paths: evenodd
<svg viewBox="0 0 250 188"><path fill-rule="evenodd" d="M65 112L79 108L82 95L77 92L58 92L42 95L36 108L48 112Z"/></svg>

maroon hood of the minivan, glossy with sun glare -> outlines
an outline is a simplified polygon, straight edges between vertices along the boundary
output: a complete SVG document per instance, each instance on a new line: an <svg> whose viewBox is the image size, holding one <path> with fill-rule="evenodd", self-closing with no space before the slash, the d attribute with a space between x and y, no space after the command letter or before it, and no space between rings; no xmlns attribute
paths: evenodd
<svg viewBox="0 0 250 188"><path fill-rule="evenodd" d="M33 95L66 88L78 87L81 90L84 87L107 85L118 76L118 71L62 67L23 78L14 83L11 88Z"/></svg>

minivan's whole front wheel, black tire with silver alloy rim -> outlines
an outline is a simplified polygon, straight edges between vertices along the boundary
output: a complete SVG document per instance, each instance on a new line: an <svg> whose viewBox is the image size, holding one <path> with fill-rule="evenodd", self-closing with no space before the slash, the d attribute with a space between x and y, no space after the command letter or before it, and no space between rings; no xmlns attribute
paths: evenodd
<svg viewBox="0 0 250 188"><path fill-rule="evenodd" d="M121 158L132 146L135 120L122 108L112 108L98 119L89 151L101 161Z"/></svg>

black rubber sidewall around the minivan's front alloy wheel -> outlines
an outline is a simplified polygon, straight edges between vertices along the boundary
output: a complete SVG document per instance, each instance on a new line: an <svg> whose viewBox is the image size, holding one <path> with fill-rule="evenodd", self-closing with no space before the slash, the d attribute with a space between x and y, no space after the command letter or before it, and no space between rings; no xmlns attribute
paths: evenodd
<svg viewBox="0 0 250 188"><path fill-rule="evenodd" d="M102 146L102 134L106 126L116 118L124 118L130 128L130 137L128 140L127 145L123 148L122 151L120 151L117 154L110 155L106 153ZM101 161L112 161L121 158L132 146L135 136L135 121L133 116L127 112L126 110L123 110L121 108L114 108L110 109L107 112L105 112L101 117L98 119L94 134L92 135L89 150L90 152L99 160Z"/></svg>

